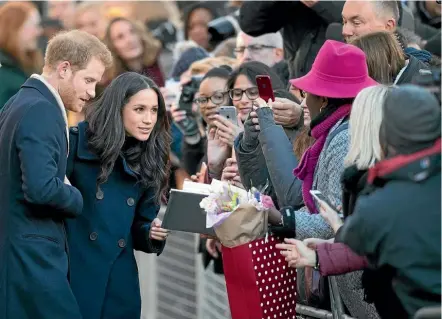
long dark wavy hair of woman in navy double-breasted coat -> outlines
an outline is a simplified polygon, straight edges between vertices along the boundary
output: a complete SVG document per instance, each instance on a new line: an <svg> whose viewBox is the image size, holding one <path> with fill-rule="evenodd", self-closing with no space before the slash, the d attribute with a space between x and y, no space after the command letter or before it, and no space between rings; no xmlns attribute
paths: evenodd
<svg viewBox="0 0 442 319"><path fill-rule="evenodd" d="M126 136L122 113L132 96L145 89L158 96L158 117L149 139L141 142ZM108 180L118 157L124 156L142 186L153 189L159 202L167 187L171 137L164 99L155 82L135 72L121 74L87 108L86 121L89 147L101 160L97 186Z"/></svg>

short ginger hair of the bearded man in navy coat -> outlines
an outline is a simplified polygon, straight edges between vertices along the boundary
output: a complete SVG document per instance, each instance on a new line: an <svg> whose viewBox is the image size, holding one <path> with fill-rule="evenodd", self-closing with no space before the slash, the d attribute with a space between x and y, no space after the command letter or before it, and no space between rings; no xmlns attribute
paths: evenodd
<svg viewBox="0 0 442 319"><path fill-rule="evenodd" d="M81 70L92 58L106 69L112 65L109 49L97 37L80 30L59 32L48 43L45 68L55 69L58 63L68 61L74 70Z"/></svg>

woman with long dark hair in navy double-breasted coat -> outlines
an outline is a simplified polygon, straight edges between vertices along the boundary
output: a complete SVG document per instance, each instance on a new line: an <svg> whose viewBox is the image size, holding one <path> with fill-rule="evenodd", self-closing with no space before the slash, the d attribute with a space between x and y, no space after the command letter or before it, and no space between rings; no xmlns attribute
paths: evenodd
<svg viewBox="0 0 442 319"><path fill-rule="evenodd" d="M67 224L71 285L84 319L139 319L134 249L160 254L156 218L169 174L169 123L149 78L118 76L70 130L67 175L83 195Z"/></svg>

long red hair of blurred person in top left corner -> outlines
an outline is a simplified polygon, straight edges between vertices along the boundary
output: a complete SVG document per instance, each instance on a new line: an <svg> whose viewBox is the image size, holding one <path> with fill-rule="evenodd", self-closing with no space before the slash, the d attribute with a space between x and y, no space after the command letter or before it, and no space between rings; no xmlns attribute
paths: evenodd
<svg viewBox="0 0 442 319"><path fill-rule="evenodd" d="M41 71L43 55L40 50L22 50L19 32L36 10L30 2L7 2L0 7L0 49L15 59L28 74Z"/></svg>

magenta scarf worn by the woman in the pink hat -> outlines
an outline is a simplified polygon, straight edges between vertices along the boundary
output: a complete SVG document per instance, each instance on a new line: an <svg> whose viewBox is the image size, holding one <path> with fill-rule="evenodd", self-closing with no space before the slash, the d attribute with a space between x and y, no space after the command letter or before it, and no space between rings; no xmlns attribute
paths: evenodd
<svg viewBox="0 0 442 319"><path fill-rule="evenodd" d="M315 138L316 141L312 146L307 149L307 151L305 151L298 167L293 170L293 175L302 180L302 197L309 212L312 214L318 213L313 197L310 194L310 190L313 186L313 177L315 174L315 169L319 160L319 156L321 155L322 149L324 148L324 144L330 130L341 119L348 116L350 114L350 111L350 104L343 105L331 115L329 115L326 119L324 119L324 121L312 128L311 135Z"/></svg>

